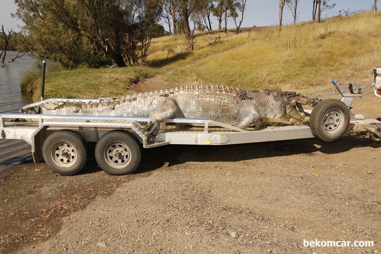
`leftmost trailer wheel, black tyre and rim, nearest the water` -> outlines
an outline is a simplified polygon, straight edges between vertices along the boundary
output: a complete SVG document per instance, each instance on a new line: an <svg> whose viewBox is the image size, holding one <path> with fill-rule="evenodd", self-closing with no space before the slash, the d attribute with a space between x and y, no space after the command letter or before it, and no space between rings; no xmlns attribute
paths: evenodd
<svg viewBox="0 0 381 254"><path fill-rule="evenodd" d="M78 133L59 130L46 138L42 155L48 166L58 174L74 175L87 162L87 143Z"/></svg>

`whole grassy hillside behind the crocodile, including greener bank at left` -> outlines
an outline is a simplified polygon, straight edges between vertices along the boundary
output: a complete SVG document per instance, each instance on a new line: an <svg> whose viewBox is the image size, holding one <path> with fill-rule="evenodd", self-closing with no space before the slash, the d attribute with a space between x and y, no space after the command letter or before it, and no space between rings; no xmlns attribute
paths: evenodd
<svg viewBox="0 0 381 254"><path fill-rule="evenodd" d="M50 73L45 95L120 96L133 93L139 79L155 76L158 89L194 82L252 90L330 88L333 78L371 80L371 70L381 65L380 39L381 14L373 12L284 26L281 33L273 27L203 32L195 36L194 51L186 50L182 36L166 36L152 40L146 67Z"/></svg>

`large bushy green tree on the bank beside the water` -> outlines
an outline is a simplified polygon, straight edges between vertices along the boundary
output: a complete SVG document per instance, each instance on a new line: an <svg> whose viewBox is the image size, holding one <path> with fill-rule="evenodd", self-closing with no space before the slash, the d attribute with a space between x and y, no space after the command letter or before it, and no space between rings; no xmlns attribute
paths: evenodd
<svg viewBox="0 0 381 254"><path fill-rule="evenodd" d="M15 0L37 52L62 65L145 61L160 0ZM140 56L138 56L140 55Z"/></svg>

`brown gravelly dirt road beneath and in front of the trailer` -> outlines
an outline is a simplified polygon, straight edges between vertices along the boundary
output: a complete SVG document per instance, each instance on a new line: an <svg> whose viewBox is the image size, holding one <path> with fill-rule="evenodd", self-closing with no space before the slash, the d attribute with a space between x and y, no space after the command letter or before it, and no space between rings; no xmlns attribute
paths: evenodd
<svg viewBox="0 0 381 254"><path fill-rule="evenodd" d="M367 118L379 105L370 92L354 102ZM346 136L152 148L122 177L94 162L71 177L25 164L0 179L0 252L379 253L380 160L381 143Z"/></svg>

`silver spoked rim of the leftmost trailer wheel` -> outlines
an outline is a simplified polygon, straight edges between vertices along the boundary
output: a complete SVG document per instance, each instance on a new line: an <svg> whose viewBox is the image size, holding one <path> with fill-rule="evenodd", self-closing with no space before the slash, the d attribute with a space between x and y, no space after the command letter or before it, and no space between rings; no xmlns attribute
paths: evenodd
<svg viewBox="0 0 381 254"><path fill-rule="evenodd" d="M64 140L55 142L50 151L54 164L59 167L72 167L78 160L78 151L75 146Z"/></svg>

